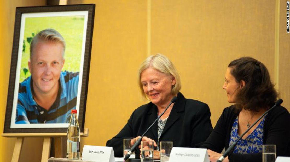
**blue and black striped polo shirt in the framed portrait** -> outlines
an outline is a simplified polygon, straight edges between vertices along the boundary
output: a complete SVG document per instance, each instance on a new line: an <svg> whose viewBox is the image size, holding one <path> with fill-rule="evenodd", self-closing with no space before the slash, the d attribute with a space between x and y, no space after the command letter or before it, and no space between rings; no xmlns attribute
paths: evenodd
<svg viewBox="0 0 290 162"><path fill-rule="evenodd" d="M47 111L37 105L31 90L31 76L19 84L15 124L28 123L69 123L70 112L76 109L79 72L60 73L61 89L57 99Z"/></svg>

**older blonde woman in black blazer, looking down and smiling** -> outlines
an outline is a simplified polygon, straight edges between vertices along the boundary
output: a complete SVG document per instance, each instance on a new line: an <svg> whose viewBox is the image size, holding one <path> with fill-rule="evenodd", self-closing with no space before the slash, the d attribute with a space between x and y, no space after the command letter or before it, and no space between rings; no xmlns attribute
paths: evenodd
<svg viewBox="0 0 290 162"><path fill-rule="evenodd" d="M159 158L160 141L173 141L174 147L198 148L204 143L213 129L209 107L200 101L186 99L179 92L179 75L166 56L150 56L142 63L139 87L142 95L151 102L133 111L124 128L107 141L106 146L113 147L116 157L123 157L123 139L139 139L174 96L177 96L177 101L145 134L142 141L154 142L154 159Z"/></svg>

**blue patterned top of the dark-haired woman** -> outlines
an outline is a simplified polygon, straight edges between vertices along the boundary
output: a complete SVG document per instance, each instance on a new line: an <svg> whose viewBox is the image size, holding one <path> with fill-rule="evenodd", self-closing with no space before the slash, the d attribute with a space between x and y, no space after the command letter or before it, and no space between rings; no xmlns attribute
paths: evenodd
<svg viewBox="0 0 290 162"><path fill-rule="evenodd" d="M266 116L264 116L260 124L250 135L248 135L246 139L240 139L240 141L238 141L238 144L235 146L233 153L254 154L262 152L264 121ZM238 124L239 123L237 117L233 123L229 145L232 145L235 141L237 141L240 138L240 135L238 134Z"/></svg>

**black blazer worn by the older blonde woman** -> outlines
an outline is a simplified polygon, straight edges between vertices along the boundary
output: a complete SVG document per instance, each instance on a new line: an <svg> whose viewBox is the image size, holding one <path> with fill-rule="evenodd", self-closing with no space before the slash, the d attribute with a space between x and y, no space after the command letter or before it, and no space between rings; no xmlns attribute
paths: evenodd
<svg viewBox="0 0 290 162"><path fill-rule="evenodd" d="M200 147L207 139L213 127L209 106L197 100L186 99L177 94L168 120L159 141L173 141L173 147ZM142 105L131 115L128 123L106 146L114 149L115 157L123 157L123 139L141 136L157 119L157 107L153 103ZM157 142L157 123L145 136Z"/></svg>

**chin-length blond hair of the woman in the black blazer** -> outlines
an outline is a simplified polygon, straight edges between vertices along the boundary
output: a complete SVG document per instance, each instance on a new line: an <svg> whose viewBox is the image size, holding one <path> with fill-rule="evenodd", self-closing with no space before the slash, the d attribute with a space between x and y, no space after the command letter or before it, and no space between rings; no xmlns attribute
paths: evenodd
<svg viewBox="0 0 290 162"><path fill-rule="evenodd" d="M147 57L139 68L138 82L139 82L139 88L144 98L148 99L148 97L145 95L145 92L143 90L143 85L141 83L141 74L144 70L146 70L149 67L154 68L164 74L172 75L175 78L175 85L173 85L171 89L172 95L176 95L180 91L181 82L180 82L180 77L175 66L166 56L158 53L157 55L152 55L152 56Z"/></svg>

